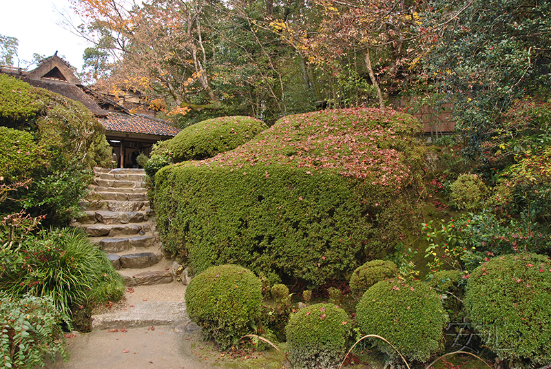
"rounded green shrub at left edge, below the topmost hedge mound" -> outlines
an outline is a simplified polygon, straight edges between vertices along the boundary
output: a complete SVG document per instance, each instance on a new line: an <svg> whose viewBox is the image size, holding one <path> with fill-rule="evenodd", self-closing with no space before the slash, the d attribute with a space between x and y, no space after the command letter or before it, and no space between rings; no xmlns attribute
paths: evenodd
<svg viewBox="0 0 551 369"><path fill-rule="evenodd" d="M17 182L30 177L43 164L43 154L32 135L25 131L0 126L1 182Z"/></svg>

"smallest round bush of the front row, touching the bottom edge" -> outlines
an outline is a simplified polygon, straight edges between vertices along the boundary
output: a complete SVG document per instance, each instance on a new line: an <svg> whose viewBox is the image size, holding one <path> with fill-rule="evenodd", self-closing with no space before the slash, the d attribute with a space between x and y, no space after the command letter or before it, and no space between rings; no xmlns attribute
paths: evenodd
<svg viewBox="0 0 551 369"><path fill-rule="evenodd" d="M338 368L351 335L349 316L333 304L314 304L291 315L285 329L295 368Z"/></svg>

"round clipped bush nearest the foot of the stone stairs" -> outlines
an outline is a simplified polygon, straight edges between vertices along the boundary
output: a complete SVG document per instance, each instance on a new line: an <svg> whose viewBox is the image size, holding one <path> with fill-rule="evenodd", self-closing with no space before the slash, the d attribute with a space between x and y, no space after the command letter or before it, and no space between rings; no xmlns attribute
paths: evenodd
<svg viewBox="0 0 551 369"><path fill-rule="evenodd" d="M253 332L262 310L262 284L242 266L213 266L189 282L187 313L222 348Z"/></svg>

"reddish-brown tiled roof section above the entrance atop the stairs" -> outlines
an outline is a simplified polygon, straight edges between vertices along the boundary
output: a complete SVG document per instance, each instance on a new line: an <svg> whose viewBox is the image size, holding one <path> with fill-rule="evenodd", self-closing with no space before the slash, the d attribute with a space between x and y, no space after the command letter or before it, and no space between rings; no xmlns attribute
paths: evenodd
<svg viewBox="0 0 551 369"><path fill-rule="evenodd" d="M156 136L174 137L180 131L180 129L170 125L165 120L141 114L109 112L107 118L101 118L100 121L107 131L130 134L152 134Z"/></svg>

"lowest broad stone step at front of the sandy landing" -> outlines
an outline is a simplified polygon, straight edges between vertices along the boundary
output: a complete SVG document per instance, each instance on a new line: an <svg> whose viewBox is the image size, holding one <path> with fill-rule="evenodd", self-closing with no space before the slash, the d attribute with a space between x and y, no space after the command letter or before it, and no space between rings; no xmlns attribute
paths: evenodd
<svg viewBox="0 0 551 369"><path fill-rule="evenodd" d="M132 328L150 326L178 326L189 323L185 302L144 301L125 310L92 315L90 326L94 329Z"/></svg>

